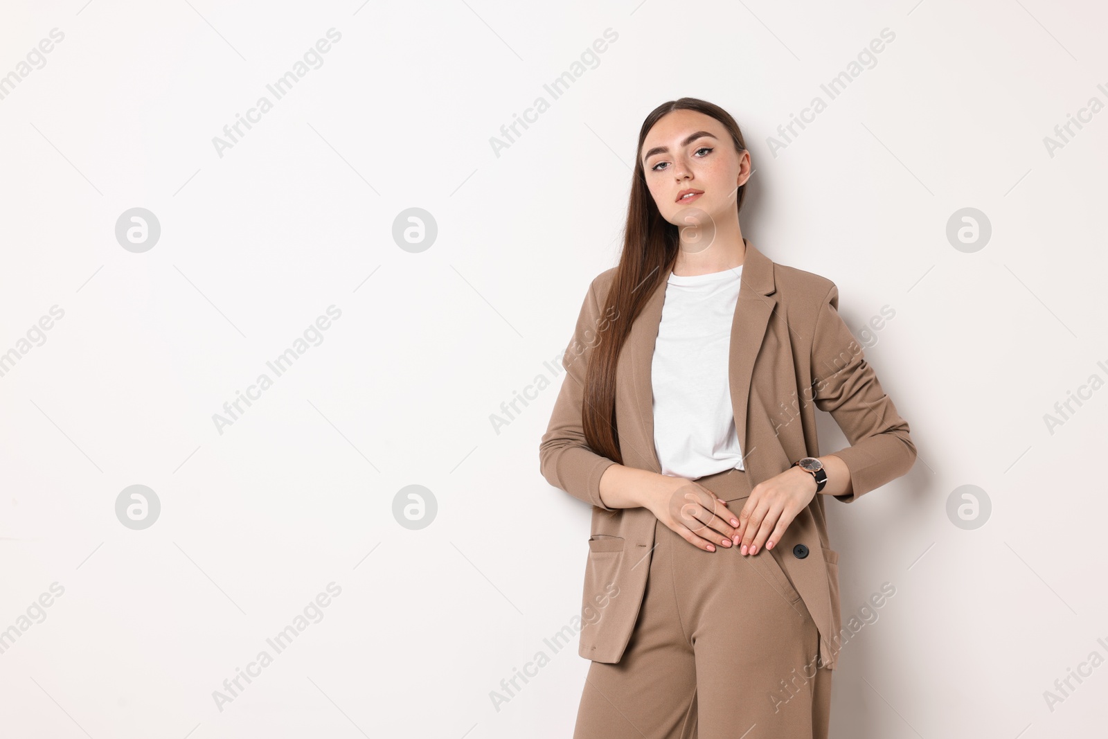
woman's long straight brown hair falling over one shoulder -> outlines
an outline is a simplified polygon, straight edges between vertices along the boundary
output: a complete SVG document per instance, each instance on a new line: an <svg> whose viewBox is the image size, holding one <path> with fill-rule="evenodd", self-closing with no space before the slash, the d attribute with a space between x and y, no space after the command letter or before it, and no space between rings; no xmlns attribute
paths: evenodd
<svg viewBox="0 0 1108 739"><path fill-rule="evenodd" d="M603 311L606 316L619 316L619 320L609 322L609 330L605 331L606 336L593 350L585 377L585 402L582 403L582 428L588 447L597 454L620 464L623 454L616 429L616 363L619 350L630 335L635 318L676 263L680 244L677 226L661 217L646 186L640 154L646 134L654 124L663 115L679 110L710 115L731 134L737 152L741 153L747 147L739 125L727 111L696 97L681 97L658 105L650 111L639 129L623 253ZM746 184L739 186L736 198L738 211L742 209L746 188Z"/></svg>

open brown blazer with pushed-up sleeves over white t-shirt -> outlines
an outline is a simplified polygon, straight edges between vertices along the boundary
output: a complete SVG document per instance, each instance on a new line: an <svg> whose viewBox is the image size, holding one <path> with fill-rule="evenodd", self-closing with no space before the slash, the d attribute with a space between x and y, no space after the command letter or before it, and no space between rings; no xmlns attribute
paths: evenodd
<svg viewBox="0 0 1108 739"><path fill-rule="evenodd" d="M771 261L749 239L746 245L729 374L750 482L783 472L802 456L820 455L815 408L831 413L851 444L833 452L845 462L853 486L850 495L837 500L851 503L906 473L916 456L909 425L840 318L834 283ZM582 429L589 352L619 320L602 315L615 271L613 267L601 273L588 288L562 359L566 377L540 444L540 471L546 481L594 506L578 654L601 663L619 661L635 627L656 523L648 509L609 509L602 503L601 475L615 462L594 453ZM650 365L665 292L663 280L635 319L616 366L616 427L624 464L657 473L661 468L654 447ZM833 668L844 640L839 554L828 537L827 499L817 494L768 553L781 564L815 622L820 664Z"/></svg>

